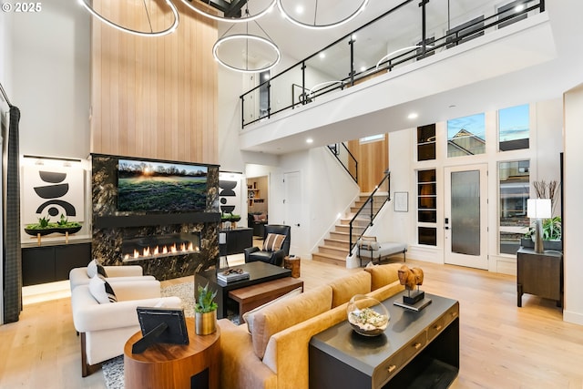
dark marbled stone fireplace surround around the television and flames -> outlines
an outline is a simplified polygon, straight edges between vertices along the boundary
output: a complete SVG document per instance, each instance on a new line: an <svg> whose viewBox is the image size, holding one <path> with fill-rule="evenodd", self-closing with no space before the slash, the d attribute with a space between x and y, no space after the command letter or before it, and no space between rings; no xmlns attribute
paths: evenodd
<svg viewBox="0 0 583 389"><path fill-rule="evenodd" d="M92 257L104 265L140 265L144 274L158 280L192 275L214 266L219 256L219 166L206 165L207 206L199 212L147 213L118 212L118 159L124 157L92 154L93 240ZM156 160L153 160L156 161ZM160 161L173 162L173 161ZM205 164L199 164L205 165ZM199 237L199 251L123 261L124 241L171 236Z"/></svg>

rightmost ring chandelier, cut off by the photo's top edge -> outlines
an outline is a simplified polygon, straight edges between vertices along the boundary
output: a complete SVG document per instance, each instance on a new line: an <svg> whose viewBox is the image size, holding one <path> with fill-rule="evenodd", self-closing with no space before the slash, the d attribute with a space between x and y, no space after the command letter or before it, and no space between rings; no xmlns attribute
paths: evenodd
<svg viewBox="0 0 583 389"><path fill-rule="evenodd" d="M353 20L354 17L358 16L361 12L363 12L364 8L366 7L366 5L368 5L369 0L360 0L360 4L359 1L351 1L350 3L355 5L356 9L352 12L352 14L350 15L342 15L341 19L336 20L336 21L323 21L322 15L326 16L326 15L331 15L331 9L330 6L328 7L322 7L322 9L318 8L318 0L312 0L313 3L313 13L311 12L310 15L307 15L304 20L300 20L299 18L295 18L292 16L292 6L296 7L297 10L297 4L293 4L293 3L297 3L297 2L293 2L292 0L277 0L277 6L278 8L280 8L280 12L281 15L283 15L286 19L288 19L290 22L292 22L292 24L296 25L296 26L300 26L303 28L311 28L314 30L323 30L326 28L333 28L333 27L337 27L337 26L342 26L345 23L350 22L351 20ZM338 5L333 5L332 4L332 8L334 10L338 10L338 9L344 9L344 6L338 6ZM349 11L350 12L350 11ZM296 13L299 13L296 12ZM308 14L308 13L306 13ZM307 18L311 18L312 21L307 21ZM318 20L321 19L321 20Z"/></svg>

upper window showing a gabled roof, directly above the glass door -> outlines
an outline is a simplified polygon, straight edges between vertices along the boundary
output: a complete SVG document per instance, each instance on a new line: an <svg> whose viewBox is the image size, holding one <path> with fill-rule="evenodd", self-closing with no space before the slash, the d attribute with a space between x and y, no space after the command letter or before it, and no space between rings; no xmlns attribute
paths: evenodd
<svg viewBox="0 0 583 389"><path fill-rule="evenodd" d="M447 157L462 157L486 152L486 115L447 120Z"/></svg>

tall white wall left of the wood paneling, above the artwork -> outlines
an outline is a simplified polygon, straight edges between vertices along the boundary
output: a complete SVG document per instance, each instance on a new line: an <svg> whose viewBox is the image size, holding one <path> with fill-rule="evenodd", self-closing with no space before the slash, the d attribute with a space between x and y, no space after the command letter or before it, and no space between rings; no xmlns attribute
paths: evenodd
<svg viewBox="0 0 583 389"><path fill-rule="evenodd" d="M88 13L68 0L39 13L11 13L12 103L20 108L21 154L87 159Z"/></svg>

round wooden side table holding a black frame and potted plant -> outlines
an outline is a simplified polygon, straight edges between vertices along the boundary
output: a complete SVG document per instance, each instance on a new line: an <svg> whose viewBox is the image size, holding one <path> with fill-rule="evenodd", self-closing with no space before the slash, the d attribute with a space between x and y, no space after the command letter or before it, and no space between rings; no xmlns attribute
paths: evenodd
<svg viewBox="0 0 583 389"><path fill-rule="evenodd" d="M194 318L186 318L189 344L153 344L144 353L131 353L142 333L128 339L124 346L124 381L126 389L190 389L220 386L220 328L199 336Z"/></svg>

